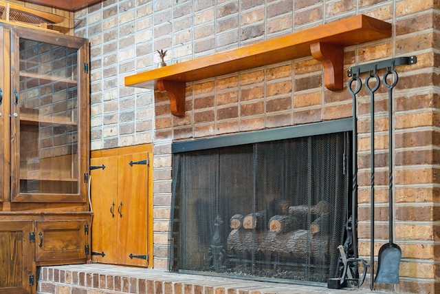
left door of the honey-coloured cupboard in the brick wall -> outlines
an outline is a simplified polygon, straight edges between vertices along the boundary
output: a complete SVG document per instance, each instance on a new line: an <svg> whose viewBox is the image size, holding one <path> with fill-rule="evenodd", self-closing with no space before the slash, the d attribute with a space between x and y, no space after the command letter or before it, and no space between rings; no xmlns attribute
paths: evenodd
<svg viewBox="0 0 440 294"><path fill-rule="evenodd" d="M92 260L107 264L117 262L118 238L118 156L91 158Z"/></svg>

